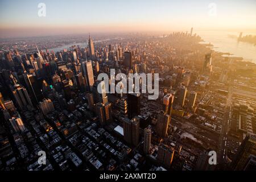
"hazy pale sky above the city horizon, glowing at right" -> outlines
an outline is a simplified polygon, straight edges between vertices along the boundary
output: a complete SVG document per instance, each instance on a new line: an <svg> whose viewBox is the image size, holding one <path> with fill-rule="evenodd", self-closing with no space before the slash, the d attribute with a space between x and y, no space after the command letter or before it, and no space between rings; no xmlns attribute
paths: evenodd
<svg viewBox="0 0 256 182"><path fill-rule="evenodd" d="M46 16L38 15L39 3L46 5ZM256 1L0 0L0 38L189 31L191 27L256 31Z"/></svg>

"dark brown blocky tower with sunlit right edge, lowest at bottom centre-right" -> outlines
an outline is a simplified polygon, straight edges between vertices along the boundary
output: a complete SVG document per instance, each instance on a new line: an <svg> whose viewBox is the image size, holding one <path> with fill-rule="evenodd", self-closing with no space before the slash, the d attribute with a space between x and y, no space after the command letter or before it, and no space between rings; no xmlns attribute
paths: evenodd
<svg viewBox="0 0 256 182"><path fill-rule="evenodd" d="M160 146L158 146L157 159L160 163L169 168L171 166L172 159L174 158L174 151L175 150L172 148L164 144L160 144Z"/></svg>

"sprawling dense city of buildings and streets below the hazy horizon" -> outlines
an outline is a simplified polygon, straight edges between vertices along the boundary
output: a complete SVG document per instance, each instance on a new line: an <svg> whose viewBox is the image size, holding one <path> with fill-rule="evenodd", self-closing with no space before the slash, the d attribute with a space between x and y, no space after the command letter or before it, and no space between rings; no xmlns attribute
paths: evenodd
<svg viewBox="0 0 256 182"><path fill-rule="evenodd" d="M256 63L195 29L0 38L0 170L256 171Z"/></svg>

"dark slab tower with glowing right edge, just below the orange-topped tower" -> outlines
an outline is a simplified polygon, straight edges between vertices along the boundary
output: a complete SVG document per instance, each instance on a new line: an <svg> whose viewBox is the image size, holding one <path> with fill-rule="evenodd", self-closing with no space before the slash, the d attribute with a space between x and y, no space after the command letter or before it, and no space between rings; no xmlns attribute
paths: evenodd
<svg viewBox="0 0 256 182"><path fill-rule="evenodd" d="M159 137L166 137L170 121L171 117L169 114L158 114L158 121L156 122L156 134L158 134Z"/></svg>

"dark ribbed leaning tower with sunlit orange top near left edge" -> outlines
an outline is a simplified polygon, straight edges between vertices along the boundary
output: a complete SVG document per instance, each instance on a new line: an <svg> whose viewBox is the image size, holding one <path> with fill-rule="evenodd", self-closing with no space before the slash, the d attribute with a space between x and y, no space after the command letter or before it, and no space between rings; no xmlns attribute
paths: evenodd
<svg viewBox="0 0 256 182"><path fill-rule="evenodd" d="M13 95L20 109L26 109L27 105L30 105L31 107L33 106L30 96L28 96L27 89L24 87L18 84L14 85Z"/></svg>

